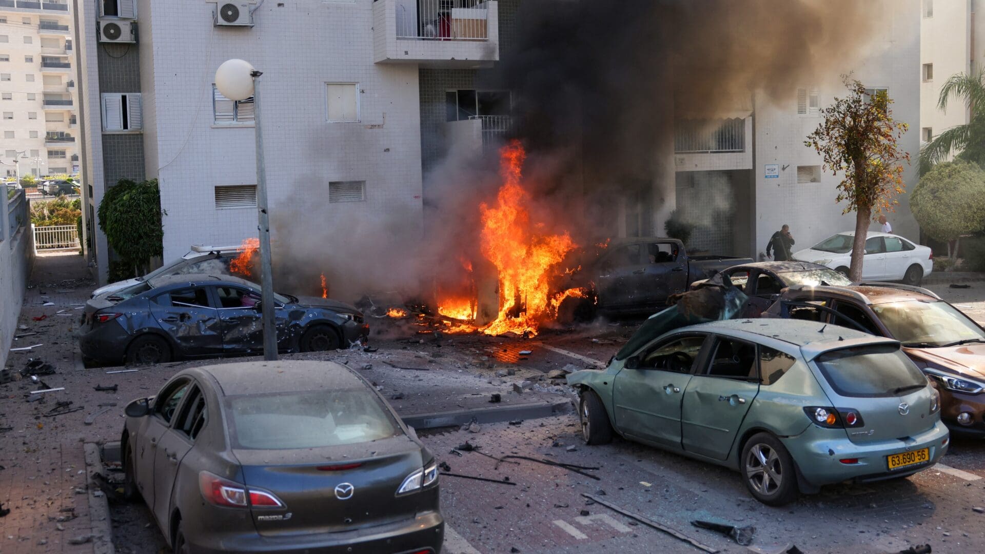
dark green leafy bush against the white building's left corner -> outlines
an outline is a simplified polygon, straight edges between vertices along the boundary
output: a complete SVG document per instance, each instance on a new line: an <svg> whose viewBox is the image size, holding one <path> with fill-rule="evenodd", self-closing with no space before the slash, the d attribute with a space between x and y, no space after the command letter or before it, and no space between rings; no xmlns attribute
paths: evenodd
<svg viewBox="0 0 985 554"><path fill-rule="evenodd" d="M99 229L136 275L147 273L151 258L164 253L161 189L158 179L120 179L99 202Z"/></svg>

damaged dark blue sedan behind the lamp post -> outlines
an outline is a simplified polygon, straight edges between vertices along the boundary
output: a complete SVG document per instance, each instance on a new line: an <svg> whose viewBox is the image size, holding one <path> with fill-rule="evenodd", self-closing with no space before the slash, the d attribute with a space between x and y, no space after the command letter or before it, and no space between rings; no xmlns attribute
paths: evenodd
<svg viewBox="0 0 985 554"><path fill-rule="evenodd" d="M79 339L100 364L160 364L263 351L260 286L230 275L166 275L90 299ZM281 352L335 350L364 342L369 326L350 305L275 295Z"/></svg>

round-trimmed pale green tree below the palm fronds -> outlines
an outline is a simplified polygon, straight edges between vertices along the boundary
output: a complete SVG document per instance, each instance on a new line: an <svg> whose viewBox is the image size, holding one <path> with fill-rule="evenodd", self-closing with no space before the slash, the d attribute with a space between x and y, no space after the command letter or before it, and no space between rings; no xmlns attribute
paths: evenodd
<svg viewBox="0 0 985 554"><path fill-rule="evenodd" d="M920 228L948 242L948 257L957 257L962 235L985 230L985 171L959 160L938 164L920 177L910 194L910 210Z"/></svg>

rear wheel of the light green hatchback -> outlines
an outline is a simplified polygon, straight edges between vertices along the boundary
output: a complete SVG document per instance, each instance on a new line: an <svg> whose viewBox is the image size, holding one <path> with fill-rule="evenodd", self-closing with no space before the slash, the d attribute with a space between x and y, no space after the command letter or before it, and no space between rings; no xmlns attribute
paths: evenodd
<svg viewBox="0 0 985 554"><path fill-rule="evenodd" d="M793 457L769 433L751 437L743 447L739 463L746 488L762 504L783 506L793 502L800 493Z"/></svg>

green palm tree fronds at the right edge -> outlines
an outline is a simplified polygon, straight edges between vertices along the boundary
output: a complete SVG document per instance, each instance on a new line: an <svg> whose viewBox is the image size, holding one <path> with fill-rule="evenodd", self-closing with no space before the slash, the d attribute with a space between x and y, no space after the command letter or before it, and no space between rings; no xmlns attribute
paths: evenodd
<svg viewBox="0 0 985 554"><path fill-rule="evenodd" d="M985 165L985 110L978 109L985 106L985 70L977 66L970 73L952 75L941 88L937 106L946 110L950 101L964 104L970 112L968 122L946 129L920 149L921 175L952 152L958 159Z"/></svg>

